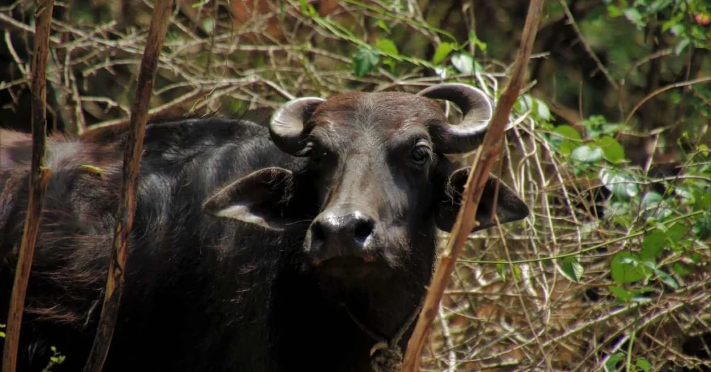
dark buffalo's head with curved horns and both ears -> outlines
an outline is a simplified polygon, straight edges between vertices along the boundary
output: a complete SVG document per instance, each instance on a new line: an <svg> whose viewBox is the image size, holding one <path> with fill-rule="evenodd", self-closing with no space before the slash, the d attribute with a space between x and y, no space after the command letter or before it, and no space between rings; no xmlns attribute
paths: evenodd
<svg viewBox="0 0 711 372"><path fill-rule="evenodd" d="M459 106L460 124L447 122L437 99ZM476 149L491 115L486 95L462 84L289 101L274 112L269 132L280 150L308 160L294 171L255 171L215 194L205 211L301 229L311 265L407 266L417 247L434 254L435 228L451 229L459 211L469 168L455 170L444 154ZM528 216L526 204L490 176L477 230L495 224L493 206L500 223Z"/></svg>

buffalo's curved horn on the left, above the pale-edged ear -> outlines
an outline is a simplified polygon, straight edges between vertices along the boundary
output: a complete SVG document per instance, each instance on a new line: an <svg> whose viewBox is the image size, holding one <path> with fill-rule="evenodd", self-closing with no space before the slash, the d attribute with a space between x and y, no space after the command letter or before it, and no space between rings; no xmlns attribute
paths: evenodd
<svg viewBox="0 0 711 372"><path fill-rule="evenodd" d="M323 98L303 97L290 100L279 107L269 122L269 134L274 144L287 154L305 155L300 152L304 149L304 139L311 130L306 127L306 122L321 102L324 102Z"/></svg>

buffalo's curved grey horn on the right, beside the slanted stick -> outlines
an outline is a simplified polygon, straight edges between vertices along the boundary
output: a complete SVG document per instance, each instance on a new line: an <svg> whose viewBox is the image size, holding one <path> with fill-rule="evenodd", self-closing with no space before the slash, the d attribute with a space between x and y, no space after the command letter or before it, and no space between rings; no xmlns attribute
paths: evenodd
<svg viewBox="0 0 711 372"><path fill-rule="evenodd" d="M440 152L461 154L479 147L493 115L493 105L484 92L465 84L443 83L427 87L417 95L454 102L464 114L459 125L429 127L429 134Z"/></svg>

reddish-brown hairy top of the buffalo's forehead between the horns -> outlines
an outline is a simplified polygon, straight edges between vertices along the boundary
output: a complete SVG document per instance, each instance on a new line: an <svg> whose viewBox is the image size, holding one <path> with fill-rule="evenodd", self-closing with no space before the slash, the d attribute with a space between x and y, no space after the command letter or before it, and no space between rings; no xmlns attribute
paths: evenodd
<svg viewBox="0 0 711 372"><path fill-rule="evenodd" d="M331 97L314 112L315 127L397 132L444 119L439 105L405 92L349 92ZM412 128L414 129L414 128Z"/></svg>

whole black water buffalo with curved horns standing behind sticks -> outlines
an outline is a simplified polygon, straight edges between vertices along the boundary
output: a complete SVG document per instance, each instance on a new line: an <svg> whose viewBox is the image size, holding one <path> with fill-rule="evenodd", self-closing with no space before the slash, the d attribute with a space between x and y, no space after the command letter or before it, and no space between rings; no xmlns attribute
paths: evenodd
<svg viewBox="0 0 711 372"><path fill-rule="evenodd" d="M437 100L461 108L447 122ZM272 115L146 129L116 332L105 371L370 371L432 275L491 103L474 87L299 98ZM21 371L80 371L100 314L126 127L48 141ZM27 204L28 134L0 132L1 311ZM498 193L497 185L498 184ZM494 201L497 196L496 203ZM491 176L478 229L528 216ZM413 324L414 326L414 324Z"/></svg>

